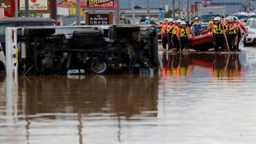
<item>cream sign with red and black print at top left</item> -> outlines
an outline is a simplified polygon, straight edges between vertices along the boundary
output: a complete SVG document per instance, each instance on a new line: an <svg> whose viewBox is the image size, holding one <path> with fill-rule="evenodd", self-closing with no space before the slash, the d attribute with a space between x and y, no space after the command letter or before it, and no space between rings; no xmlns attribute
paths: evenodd
<svg viewBox="0 0 256 144"><path fill-rule="evenodd" d="M29 0L29 10L48 10L49 0ZM19 10L25 10L25 0L19 0Z"/></svg>

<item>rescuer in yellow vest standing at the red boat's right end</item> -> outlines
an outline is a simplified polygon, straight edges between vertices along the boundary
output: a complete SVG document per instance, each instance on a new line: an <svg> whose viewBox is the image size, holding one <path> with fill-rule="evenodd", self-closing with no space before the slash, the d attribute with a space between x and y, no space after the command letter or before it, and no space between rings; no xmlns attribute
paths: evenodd
<svg viewBox="0 0 256 144"><path fill-rule="evenodd" d="M225 37L223 34L223 25L221 24L221 17L214 18L214 24L211 27L211 39L214 41L214 51L225 50Z"/></svg>

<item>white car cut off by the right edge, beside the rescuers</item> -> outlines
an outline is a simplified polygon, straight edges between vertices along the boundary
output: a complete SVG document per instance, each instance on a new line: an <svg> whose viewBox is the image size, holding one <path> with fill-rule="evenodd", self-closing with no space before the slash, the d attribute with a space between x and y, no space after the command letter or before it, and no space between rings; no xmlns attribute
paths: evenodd
<svg viewBox="0 0 256 144"><path fill-rule="evenodd" d="M243 46L253 46L256 44L256 19L248 19L246 28L248 28L248 35L243 37Z"/></svg>

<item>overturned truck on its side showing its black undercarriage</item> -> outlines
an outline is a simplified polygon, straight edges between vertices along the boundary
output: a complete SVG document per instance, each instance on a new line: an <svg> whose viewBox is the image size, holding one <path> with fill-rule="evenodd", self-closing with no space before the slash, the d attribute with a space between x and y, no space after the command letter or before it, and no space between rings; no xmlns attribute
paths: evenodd
<svg viewBox="0 0 256 144"><path fill-rule="evenodd" d="M104 74L112 69L152 73L159 65L155 26L21 27L6 32L6 60L9 55L21 75Z"/></svg>

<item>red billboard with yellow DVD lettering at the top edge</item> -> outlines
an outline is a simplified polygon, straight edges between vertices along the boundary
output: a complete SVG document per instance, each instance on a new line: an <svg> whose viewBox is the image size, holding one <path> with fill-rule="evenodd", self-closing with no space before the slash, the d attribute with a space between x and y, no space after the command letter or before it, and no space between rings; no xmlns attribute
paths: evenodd
<svg viewBox="0 0 256 144"><path fill-rule="evenodd" d="M83 0L85 9L115 9L115 0Z"/></svg>

